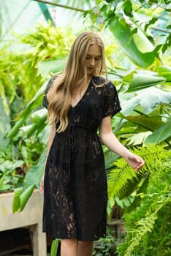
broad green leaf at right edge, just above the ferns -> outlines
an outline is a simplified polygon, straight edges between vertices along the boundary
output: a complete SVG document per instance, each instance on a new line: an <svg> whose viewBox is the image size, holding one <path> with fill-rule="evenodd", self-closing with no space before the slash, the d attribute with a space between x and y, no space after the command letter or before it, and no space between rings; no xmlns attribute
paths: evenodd
<svg viewBox="0 0 171 256"><path fill-rule="evenodd" d="M151 135L146 138L146 143L153 143L158 144L171 136L171 117L167 118L167 121L161 125L160 127L156 128Z"/></svg>

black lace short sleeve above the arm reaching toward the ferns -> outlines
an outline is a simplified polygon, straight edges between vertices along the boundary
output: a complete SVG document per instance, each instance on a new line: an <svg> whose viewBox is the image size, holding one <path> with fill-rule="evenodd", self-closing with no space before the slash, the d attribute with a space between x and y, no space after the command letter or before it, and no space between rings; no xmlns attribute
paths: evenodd
<svg viewBox="0 0 171 256"><path fill-rule="evenodd" d="M112 82L108 82L104 86L104 115L114 116L121 110L121 105L118 99L118 93Z"/></svg>

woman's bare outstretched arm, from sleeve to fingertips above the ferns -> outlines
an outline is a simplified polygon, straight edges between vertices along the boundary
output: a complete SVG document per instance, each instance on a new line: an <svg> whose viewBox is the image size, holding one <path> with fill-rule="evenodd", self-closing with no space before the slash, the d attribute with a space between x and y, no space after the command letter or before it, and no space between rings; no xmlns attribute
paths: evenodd
<svg viewBox="0 0 171 256"><path fill-rule="evenodd" d="M111 128L110 116L104 117L102 119L99 129L99 136L102 140L102 143L104 143L104 145L107 146L107 148L109 148L111 151L126 159L126 162L128 162L129 165L131 165L136 172L140 170L142 165L144 165L144 161L141 157L132 154L132 152L130 152L129 149L124 147L115 137Z"/></svg>

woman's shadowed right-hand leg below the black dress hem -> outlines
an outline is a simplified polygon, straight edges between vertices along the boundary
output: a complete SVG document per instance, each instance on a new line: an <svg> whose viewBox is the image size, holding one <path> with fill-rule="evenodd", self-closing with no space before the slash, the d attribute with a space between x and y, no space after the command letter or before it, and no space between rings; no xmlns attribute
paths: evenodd
<svg viewBox="0 0 171 256"><path fill-rule="evenodd" d="M78 241L77 256L91 256L93 245L93 241Z"/></svg>

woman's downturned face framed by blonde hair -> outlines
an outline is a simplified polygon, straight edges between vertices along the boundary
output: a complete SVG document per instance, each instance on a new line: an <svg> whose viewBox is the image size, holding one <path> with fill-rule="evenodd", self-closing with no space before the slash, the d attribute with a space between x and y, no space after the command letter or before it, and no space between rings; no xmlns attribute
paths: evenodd
<svg viewBox="0 0 171 256"><path fill-rule="evenodd" d="M90 45L86 56L86 69L88 77L94 74L95 69L99 69L102 59L102 50L99 45Z"/></svg>

